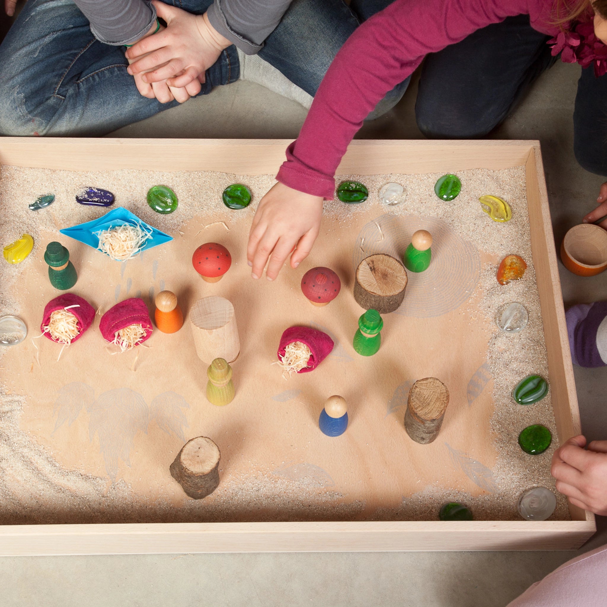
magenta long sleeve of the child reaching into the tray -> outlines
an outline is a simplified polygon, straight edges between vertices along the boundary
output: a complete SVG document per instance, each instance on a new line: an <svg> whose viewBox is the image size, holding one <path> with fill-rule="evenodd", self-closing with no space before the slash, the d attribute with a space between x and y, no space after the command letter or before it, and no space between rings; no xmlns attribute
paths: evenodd
<svg viewBox="0 0 607 607"><path fill-rule="evenodd" d="M334 174L354 134L424 56L515 15L528 14L535 30L556 35L552 5L552 0L395 0L365 21L337 53L277 180L333 198Z"/></svg>

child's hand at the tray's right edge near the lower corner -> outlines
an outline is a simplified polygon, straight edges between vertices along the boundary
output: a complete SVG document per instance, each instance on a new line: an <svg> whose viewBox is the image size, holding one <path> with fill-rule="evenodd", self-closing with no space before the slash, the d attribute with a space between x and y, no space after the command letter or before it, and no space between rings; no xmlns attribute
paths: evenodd
<svg viewBox="0 0 607 607"><path fill-rule="evenodd" d="M607 441L592 441L574 436L552 456L552 476L557 490L572 504L594 514L607 515Z"/></svg>

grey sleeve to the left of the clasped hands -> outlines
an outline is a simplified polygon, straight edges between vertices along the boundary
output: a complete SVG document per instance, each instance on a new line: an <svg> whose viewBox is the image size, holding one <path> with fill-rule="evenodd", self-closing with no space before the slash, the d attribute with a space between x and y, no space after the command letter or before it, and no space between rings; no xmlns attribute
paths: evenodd
<svg viewBox="0 0 607 607"><path fill-rule="evenodd" d="M151 29L156 9L144 0L74 0L89 19L93 36L105 44L132 44Z"/></svg>

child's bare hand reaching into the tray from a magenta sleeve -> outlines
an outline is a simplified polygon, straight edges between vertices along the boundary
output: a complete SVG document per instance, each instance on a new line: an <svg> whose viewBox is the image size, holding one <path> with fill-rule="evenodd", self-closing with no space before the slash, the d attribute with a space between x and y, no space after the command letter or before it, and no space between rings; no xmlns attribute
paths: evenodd
<svg viewBox="0 0 607 607"><path fill-rule="evenodd" d="M320 196L298 192L283 183L274 185L262 198L246 248L253 278L262 276L268 257L268 280L278 276L293 249L292 268L297 268L308 257L320 230L322 200Z"/></svg>

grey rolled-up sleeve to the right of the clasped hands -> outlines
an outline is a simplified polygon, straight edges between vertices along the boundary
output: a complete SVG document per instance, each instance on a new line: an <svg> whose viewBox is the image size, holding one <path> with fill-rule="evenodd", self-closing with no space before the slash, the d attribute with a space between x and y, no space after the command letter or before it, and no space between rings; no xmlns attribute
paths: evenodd
<svg viewBox="0 0 607 607"><path fill-rule="evenodd" d="M290 4L291 0L215 0L207 16L217 32L247 55L254 55Z"/></svg>

